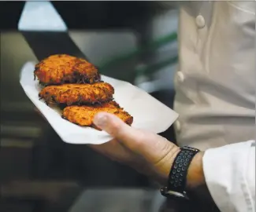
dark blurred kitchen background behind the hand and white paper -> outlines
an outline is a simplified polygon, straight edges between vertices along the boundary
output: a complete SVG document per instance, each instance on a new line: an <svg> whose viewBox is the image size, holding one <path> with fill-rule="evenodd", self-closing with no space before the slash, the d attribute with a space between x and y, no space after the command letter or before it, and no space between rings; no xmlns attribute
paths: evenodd
<svg viewBox="0 0 256 212"><path fill-rule="evenodd" d="M158 211L154 182L62 142L35 112L19 74L47 54L84 54L104 75L172 108L176 2L0 2L0 9L0 211ZM174 141L172 129L163 135Z"/></svg>

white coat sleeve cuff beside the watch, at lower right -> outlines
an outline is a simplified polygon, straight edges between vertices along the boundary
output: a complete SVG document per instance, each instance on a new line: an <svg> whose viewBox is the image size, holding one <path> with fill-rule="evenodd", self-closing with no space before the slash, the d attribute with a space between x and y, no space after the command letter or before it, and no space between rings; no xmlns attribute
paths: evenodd
<svg viewBox="0 0 256 212"><path fill-rule="evenodd" d="M206 150L206 185L222 212L255 212L255 141Z"/></svg>

